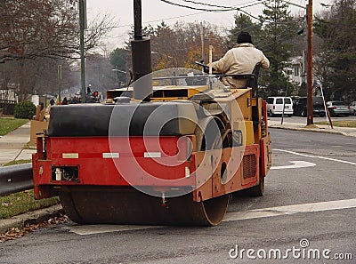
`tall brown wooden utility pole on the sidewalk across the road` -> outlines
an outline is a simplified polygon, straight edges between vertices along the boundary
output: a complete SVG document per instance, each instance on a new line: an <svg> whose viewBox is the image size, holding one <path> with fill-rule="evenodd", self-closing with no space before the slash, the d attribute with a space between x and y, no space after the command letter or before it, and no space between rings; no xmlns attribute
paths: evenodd
<svg viewBox="0 0 356 264"><path fill-rule="evenodd" d="M308 54L307 54L307 73L306 73L306 84L307 84L307 125L314 124L312 116L312 0L309 0L307 5L307 22L308 22L308 32L307 32L307 42L308 42Z"/></svg>

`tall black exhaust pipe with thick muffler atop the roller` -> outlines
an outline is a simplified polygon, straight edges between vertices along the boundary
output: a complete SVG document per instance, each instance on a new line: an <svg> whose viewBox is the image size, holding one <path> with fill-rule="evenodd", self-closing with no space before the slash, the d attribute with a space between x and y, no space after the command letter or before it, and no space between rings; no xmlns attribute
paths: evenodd
<svg viewBox="0 0 356 264"><path fill-rule="evenodd" d="M131 41L134 98L149 101L152 95L150 38L142 36L141 0L134 0L134 40Z"/></svg>

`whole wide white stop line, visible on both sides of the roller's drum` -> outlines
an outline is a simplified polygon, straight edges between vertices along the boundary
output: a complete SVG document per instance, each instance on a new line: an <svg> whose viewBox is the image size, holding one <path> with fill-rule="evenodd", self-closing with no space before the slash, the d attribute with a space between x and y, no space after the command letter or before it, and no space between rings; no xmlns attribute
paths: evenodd
<svg viewBox="0 0 356 264"><path fill-rule="evenodd" d="M255 210L248 210L245 212L228 212L226 213L223 222L249 220L264 217L290 215L303 212L323 212L330 210L350 209L356 208L356 199L328 201L312 204L291 204L278 207L261 208ZM77 225L66 228L69 232L77 235L93 235L110 232L143 230L151 228L163 228L163 226L130 226L130 225Z"/></svg>

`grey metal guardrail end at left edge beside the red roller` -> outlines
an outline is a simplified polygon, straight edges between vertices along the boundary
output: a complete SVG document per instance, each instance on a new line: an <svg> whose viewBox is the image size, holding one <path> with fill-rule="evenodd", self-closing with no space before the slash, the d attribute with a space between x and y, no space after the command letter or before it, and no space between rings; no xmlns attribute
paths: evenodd
<svg viewBox="0 0 356 264"><path fill-rule="evenodd" d="M0 196L33 188L32 164L0 167Z"/></svg>

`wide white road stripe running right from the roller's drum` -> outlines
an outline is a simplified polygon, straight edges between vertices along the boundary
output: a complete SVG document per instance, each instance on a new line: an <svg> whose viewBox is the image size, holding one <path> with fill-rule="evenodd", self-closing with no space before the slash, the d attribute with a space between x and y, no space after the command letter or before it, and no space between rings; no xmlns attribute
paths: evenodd
<svg viewBox="0 0 356 264"><path fill-rule="evenodd" d="M323 212L330 210L349 209L356 207L356 199L320 202L312 204L292 204L286 206L270 207L249 210L246 212L228 212L223 221L247 220L301 212Z"/></svg>

